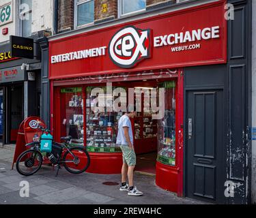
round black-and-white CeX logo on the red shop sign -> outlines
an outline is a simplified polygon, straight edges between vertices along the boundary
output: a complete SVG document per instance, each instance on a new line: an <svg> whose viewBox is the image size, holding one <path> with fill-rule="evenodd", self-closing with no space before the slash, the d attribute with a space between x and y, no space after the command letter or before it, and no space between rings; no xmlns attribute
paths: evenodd
<svg viewBox="0 0 256 218"><path fill-rule="evenodd" d="M150 44L150 29L124 27L112 37L109 55L115 65L131 68L143 59L150 58Z"/></svg>

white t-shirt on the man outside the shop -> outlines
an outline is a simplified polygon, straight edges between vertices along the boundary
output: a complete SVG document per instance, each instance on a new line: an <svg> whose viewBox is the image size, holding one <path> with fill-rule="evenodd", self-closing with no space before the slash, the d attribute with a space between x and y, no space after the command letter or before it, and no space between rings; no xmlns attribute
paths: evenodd
<svg viewBox="0 0 256 218"><path fill-rule="evenodd" d="M123 127L129 128L128 134L130 137L130 142L132 142L132 144L133 144L132 123L130 123L130 119L126 114L121 116L118 121L117 144L127 144L128 145L128 142L126 142L126 137L124 136L124 128Z"/></svg>

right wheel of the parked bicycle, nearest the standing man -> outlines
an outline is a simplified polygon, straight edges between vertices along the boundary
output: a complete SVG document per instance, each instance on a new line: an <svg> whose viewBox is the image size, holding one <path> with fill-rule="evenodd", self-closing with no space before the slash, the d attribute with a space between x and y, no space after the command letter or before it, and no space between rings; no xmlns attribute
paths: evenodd
<svg viewBox="0 0 256 218"><path fill-rule="evenodd" d="M72 154L71 154L72 153ZM90 164L89 153L81 148L74 147L63 155L63 166L68 172L79 174L85 172Z"/></svg>

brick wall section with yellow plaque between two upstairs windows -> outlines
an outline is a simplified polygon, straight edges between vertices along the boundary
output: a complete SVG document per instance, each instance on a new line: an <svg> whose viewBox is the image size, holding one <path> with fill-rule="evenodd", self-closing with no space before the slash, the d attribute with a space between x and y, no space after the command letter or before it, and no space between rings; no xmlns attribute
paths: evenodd
<svg viewBox="0 0 256 218"><path fill-rule="evenodd" d="M94 0L95 22L117 18L117 0Z"/></svg>

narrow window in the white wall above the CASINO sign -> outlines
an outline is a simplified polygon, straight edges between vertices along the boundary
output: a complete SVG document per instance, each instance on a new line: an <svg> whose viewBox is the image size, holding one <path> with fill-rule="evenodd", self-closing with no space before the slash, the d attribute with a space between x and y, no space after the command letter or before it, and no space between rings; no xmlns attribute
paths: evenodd
<svg viewBox="0 0 256 218"><path fill-rule="evenodd" d="M23 37L31 35L32 0L20 0L20 31Z"/></svg>

